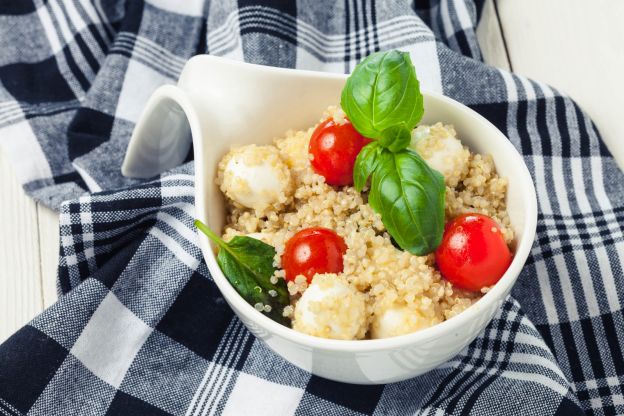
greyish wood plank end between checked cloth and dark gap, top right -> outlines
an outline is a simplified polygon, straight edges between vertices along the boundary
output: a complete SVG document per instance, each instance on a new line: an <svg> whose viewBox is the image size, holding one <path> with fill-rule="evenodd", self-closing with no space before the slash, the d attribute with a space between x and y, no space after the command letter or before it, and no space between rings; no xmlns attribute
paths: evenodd
<svg viewBox="0 0 624 416"><path fill-rule="evenodd" d="M481 20L477 26L477 40L481 47L483 60L495 67L510 70L509 58L494 0L486 0L483 5Z"/></svg>

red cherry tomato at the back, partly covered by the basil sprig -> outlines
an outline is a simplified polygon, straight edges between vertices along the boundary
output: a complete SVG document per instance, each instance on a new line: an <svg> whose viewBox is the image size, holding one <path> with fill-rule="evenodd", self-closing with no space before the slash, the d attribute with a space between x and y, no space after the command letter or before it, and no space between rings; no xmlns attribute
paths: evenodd
<svg viewBox="0 0 624 416"><path fill-rule="evenodd" d="M312 168L329 185L352 185L355 158L368 143L370 140L358 133L350 121L336 124L333 119L327 119L310 138Z"/></svg>

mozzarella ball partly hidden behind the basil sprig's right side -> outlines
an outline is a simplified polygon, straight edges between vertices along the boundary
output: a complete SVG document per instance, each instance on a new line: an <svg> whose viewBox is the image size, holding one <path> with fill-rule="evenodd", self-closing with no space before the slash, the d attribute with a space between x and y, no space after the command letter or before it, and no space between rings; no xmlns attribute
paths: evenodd
<svg viewBox="0 0 624 416"><path fill-rule="evenodd" d="M410 147L444 176L448 186L457 186L468 173L470 151L457 139L451 126L418 126L412 131Z"/></svg>

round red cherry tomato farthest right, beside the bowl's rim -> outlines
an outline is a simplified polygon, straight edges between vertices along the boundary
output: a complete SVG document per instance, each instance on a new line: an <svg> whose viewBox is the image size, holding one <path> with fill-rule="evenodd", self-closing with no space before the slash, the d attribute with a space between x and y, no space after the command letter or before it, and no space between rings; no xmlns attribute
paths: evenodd
<svg viewBox="0 0 624 416"><path fill-rule="evenodd" d="M500 228L481 214L464 214L449 222L435 258L444 278L472 291L498 282L511 264Z"/></svg>

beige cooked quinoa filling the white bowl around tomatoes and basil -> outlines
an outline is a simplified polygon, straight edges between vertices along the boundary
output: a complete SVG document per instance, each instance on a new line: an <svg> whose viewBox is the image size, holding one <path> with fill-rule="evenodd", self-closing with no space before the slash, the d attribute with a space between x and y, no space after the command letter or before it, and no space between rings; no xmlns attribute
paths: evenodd
<svg viewBox="0 0 624 416"><path fill-rule="evenodd" d="M344 113L330 107L323 120L328 117L342 122ZM281 256L296 232L325 227L347 244L342 273L316 275L310 285L304 276L288 282L291 307L284 316L293 317L293 328L326 338L386 338L440 323L477 301L488 289L482 293L456 289L436 270L433 254L415 256L397 249L381 217L367 204L366 192L351 186L334 188L314 173L308 143L315 127L288 131L274 140L274 146L235 149L221 161L218 173L228 197L223 238L249 235L275 247L273 281L284 278ZM468 212L488 215L511 244L507 180L496 174L490 156L471 153L453 127L442 123L419 126L410 146L444 175L447 221ZM262 152L270 153L271 163L279 166L282 192L272 204L266 200L259 207L242 204L234 197L235 182L227 179L227 164L237 153L245 152L253 160L255 152L268 148L273 150Z"/></svg>

